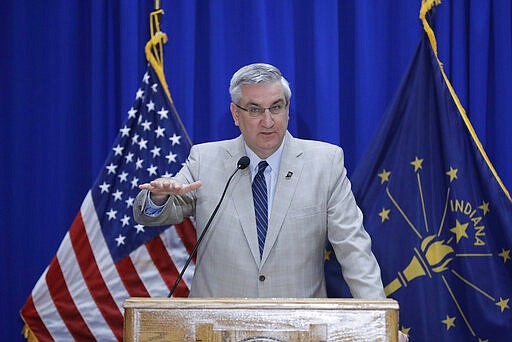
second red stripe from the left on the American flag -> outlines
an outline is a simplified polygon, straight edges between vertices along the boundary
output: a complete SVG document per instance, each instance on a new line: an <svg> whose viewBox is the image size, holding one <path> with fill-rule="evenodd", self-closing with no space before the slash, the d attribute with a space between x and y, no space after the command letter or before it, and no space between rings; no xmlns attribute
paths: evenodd
<svg viewBox="0 0 512 342"><path fill-rule="evenodd" d="M69 293L57 257L54 257L50 263L48 273L46 274L46 284L60 317L64 317L63 322L74 339L94 340L94 335L89 330ZM73 319L67 319L68 317Z"/></svg>

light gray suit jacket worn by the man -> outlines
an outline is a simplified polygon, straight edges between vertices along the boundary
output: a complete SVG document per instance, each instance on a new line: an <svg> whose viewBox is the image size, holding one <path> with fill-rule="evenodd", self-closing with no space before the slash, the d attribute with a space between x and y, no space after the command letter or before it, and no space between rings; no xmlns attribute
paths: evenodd
<svg viewBox="0 0 512 342"><path fill-rule="evenodd" d="M136 221L168 225L194 216L199 236L244 155L242 136L193 146L175 178L182 183L201 180L202 186L171 197L158 217L143 213L148 194L141 191L134 205ZM292 177L286 177L289 171ZM325 297L324 245L329 239L352 295L384 298L362 222L341 148L287 133L261 260L247 168L234 176L202 241L190 296Z"/></svg>

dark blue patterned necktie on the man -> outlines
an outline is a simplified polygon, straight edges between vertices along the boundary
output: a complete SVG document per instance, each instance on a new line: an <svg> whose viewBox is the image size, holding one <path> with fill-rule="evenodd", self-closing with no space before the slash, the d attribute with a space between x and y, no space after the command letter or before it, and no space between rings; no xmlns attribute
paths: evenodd
<svg viewBox="0 0 512 342"><path fill-rule="evenodd" d="M260 257L263 255L263 246L265 246L265 237L268 227L268 198L267 182L263 172L268 166L264 160L258 164L258 173L252 181L252 197L254 199L254 212L256 214L256 229L258 230L258 246L260 247Z"/></svg>

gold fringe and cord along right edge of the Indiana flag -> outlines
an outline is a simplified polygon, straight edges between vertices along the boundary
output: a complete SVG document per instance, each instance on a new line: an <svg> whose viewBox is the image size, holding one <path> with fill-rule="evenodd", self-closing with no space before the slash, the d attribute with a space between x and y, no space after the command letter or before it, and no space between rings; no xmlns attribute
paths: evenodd
<svg viewBox="0 0 512 342"><path fill-rule="evenodd" d="M421 8L420 8L420 19L423 23L423 29L425 33L428 36L428 39L430 41L430 45L432 47L432 50L434 51L434 54L436 56L437 63L439 65L439 69L441 70L441 73L443 75L444 81L446 83L446 86L450 90L450 94L452 95L452 99L457 105L457 108L459 110L459 113L462 117L462 120L464 120L464 123L466 124L466 127L469 130L469 133L471 134L471 137L473 138L473 141L475 142L476 146L478 147L478 150L482 154L482 157L484 158L485 162L487 163L487 166L491 170L492 174L494 175L494 178L500 185L502 191L505 193L507 198L512 202L512 197L510 197L510 193L508 192L507 188L505 187L505 184L501 181L501 178L498 176L498 173L496 172L496 169L491 163L491 160L489 159L489 156L484 150L484 147L482 146L482 143L480 142L480 139L478 139L478 136L476 135L476 132L473 128L473 125L471 124L471 121L469 121L468 116L466 115L466 111L464 110L464 107L460 103L459 97L455 93L455 90L452 87L452 84L450 83L450 80L448 79L448 76L446 76L446 73L444 72L443 63L439 60L439 56L437 54L437 40L434 31L430 27L427 19L426 14L428 11L430 11L434 6L437 6L441 4L441 0L422 0L421 2Z"/></svg>

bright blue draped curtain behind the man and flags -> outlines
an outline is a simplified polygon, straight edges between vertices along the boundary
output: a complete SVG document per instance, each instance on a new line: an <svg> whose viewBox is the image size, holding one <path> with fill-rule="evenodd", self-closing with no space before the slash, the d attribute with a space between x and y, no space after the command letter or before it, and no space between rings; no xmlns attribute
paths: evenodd
<svg viewBox="0 0 512 342"><path fill-rule="evenodd" d="M420 0L163 0L165 73L194 143L239 134L229 79L257 61L292 86L290 131L341 145L349 174L421 37ZM0 4L0 334L50 263L127 117L153 1ZM512 4L444 0L439 57L512 188ZM510 229L510 227L509 227Z"/></svg>

